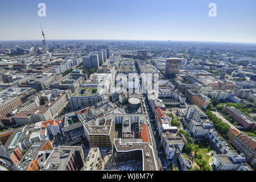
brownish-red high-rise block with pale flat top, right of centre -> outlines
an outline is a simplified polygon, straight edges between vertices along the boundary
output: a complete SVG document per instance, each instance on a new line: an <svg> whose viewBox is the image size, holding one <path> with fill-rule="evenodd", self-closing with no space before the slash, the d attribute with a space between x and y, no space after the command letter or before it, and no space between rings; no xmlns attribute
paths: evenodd
<svg viewBox="0 0 256 182"><path fill-rule="evenodd" d="M174 77L176 74L180 72L181 67L181 58L167 58L166 59L166 69L164 71L164 75L166 77Z"/></svg>

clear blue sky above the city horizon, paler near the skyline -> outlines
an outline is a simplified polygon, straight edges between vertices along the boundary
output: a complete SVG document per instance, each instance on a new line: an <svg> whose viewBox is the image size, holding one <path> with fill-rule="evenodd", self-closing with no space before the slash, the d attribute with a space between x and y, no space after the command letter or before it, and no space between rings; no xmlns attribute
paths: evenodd
<svg viewBox="0 0 256 182"><path fill-rule="evenodd" d="M38 4L46 3L46 17ZM208 16L216 3L217 17ZM192 40L256 43L255 0L0 1L0 40Z"/></svg>

